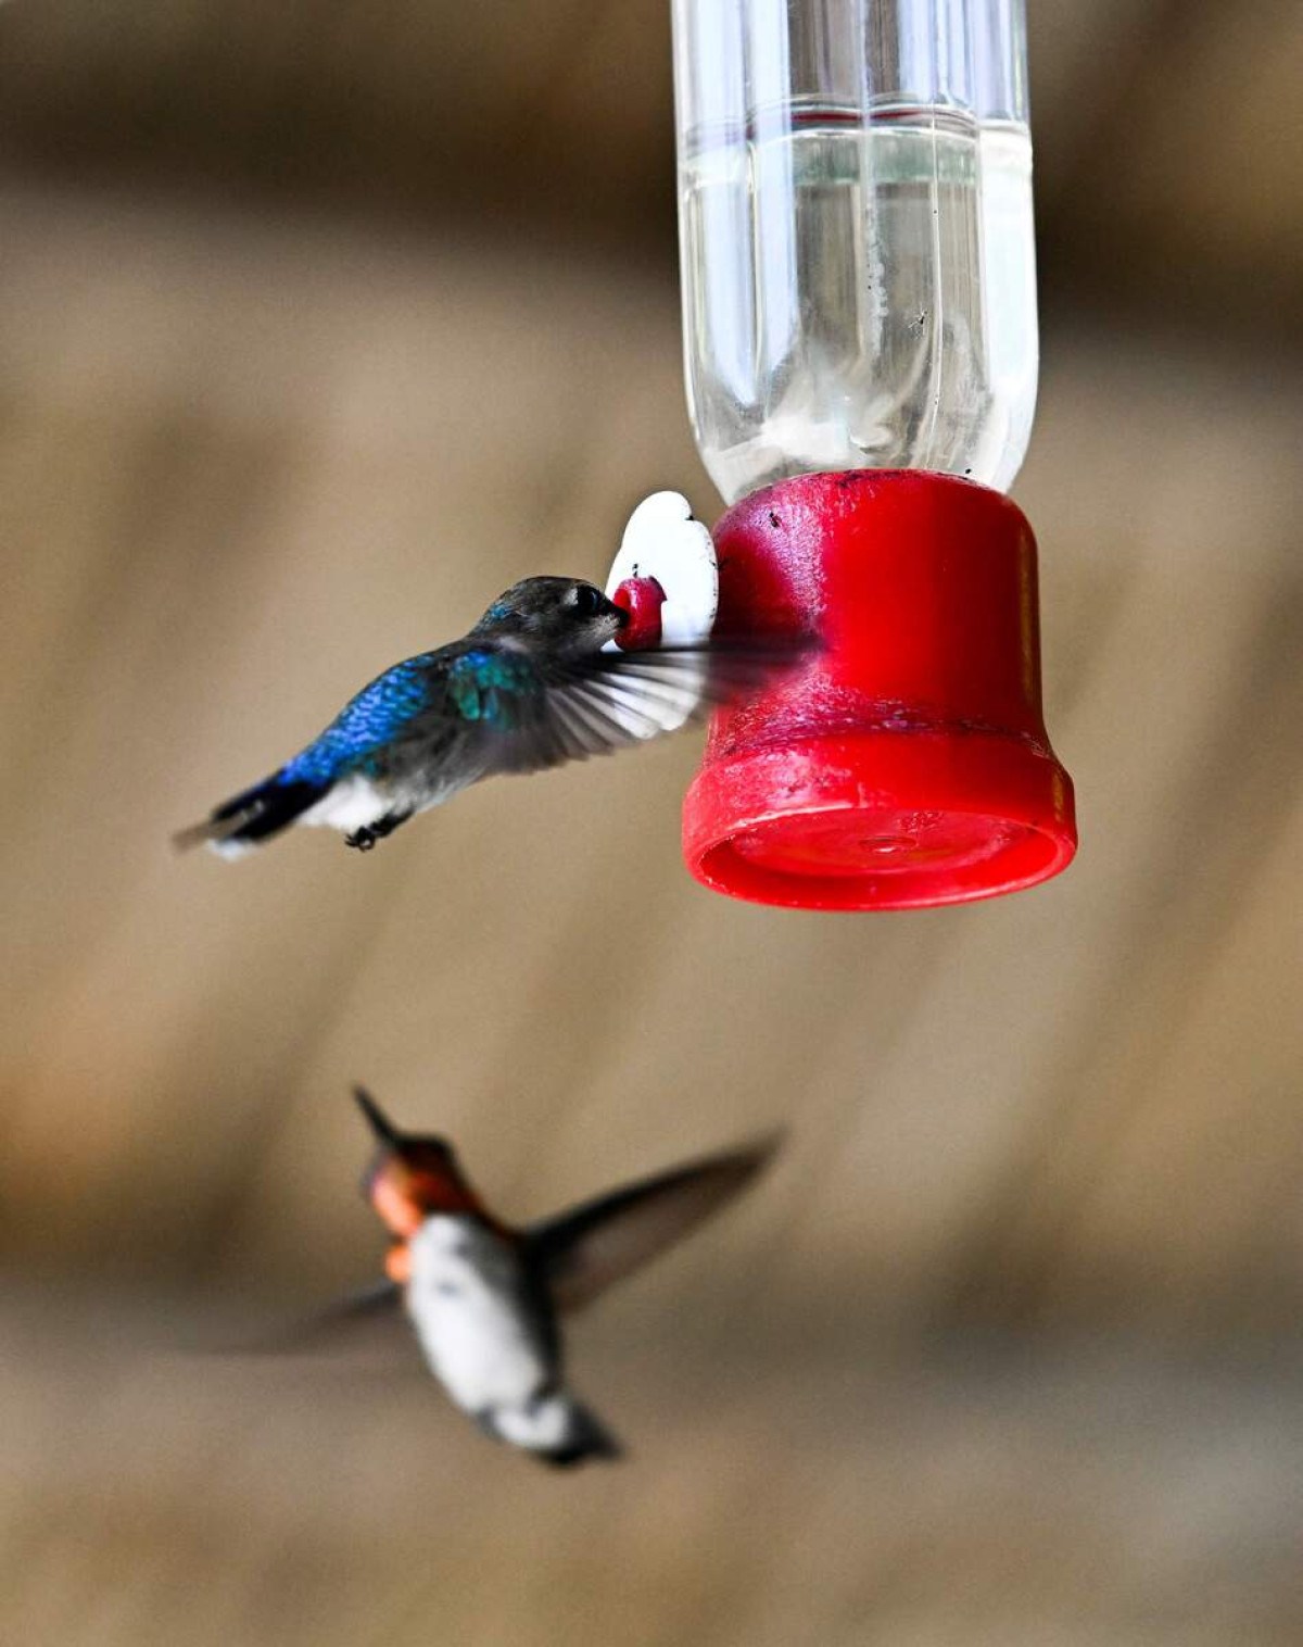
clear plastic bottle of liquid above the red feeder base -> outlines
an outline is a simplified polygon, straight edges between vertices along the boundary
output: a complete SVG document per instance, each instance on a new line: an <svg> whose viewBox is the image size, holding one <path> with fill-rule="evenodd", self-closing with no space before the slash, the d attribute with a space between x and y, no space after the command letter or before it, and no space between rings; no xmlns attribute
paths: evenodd
<svg viewBox="0 0 1303 1647"><path fill-rule="evenodd" d="M1036 400L1023 0L675 0L688 407L727 502L1007 489Z"/></svg>

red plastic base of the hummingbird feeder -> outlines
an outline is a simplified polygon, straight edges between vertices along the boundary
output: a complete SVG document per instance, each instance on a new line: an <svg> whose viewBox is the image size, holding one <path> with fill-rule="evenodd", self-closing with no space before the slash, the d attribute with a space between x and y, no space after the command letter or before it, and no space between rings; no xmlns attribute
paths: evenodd
<svg viewBox="0 0 1303 1647"><path fill-rule="evenodd" d="M1015 504L916 469L803 474L744 497L714 539L716 632L813 629L823 651L716 713L683 807L699 881L798 909L926 909L1071 863Z"/></svg>

